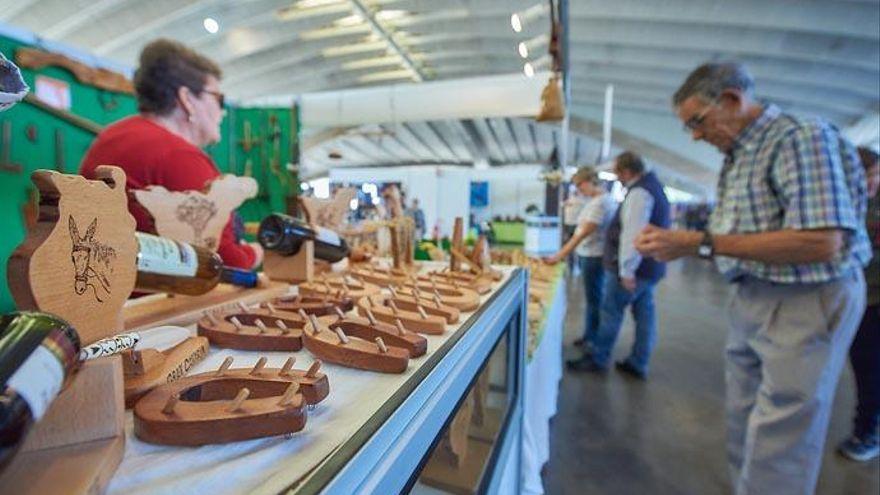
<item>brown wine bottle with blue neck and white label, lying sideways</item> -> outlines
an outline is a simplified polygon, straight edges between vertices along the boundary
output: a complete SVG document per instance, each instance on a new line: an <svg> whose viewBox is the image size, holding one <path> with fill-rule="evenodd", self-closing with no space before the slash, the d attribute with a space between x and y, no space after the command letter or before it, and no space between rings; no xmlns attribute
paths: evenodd
<svg viewBox="0 0 880 495"><path fill-rule="evenodd" d="M143 232L138 241L135 290L197 296L220 282L256 286L256 273L223 266L217 253Z"/></svg>

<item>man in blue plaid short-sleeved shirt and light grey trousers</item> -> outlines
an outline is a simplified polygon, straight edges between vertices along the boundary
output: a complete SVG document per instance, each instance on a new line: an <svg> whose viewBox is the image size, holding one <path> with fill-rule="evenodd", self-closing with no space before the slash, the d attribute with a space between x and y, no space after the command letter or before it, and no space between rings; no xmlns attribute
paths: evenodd
<svg viewBox="0 0 880 495"><path fill-rule="evenodd" d="M706 231L648 226L636 247L659 260L714 259L735 284L725 349L734 491L805 495L865 309L865 176L832 125L753 95L738 63L704 64L675 92L693 139L725 154L717 203Z"/></svg>

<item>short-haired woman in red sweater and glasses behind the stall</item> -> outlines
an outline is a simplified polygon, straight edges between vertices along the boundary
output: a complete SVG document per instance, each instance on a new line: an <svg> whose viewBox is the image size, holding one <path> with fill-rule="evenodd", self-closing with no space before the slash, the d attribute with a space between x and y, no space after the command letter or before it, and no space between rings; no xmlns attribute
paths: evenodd
<svg viewBox="0 0 880 495"><path fill-rule="evenodd" d="M164 186L169 191L203 190L220 172L202 147L220 140L223 120L221 72L217 65L171 40L151 42L134 75L139 115L116 122L98 134L80 166L94 178L99 165L125 171L128 208L137 230L156 232L153 217L131 190ZM253 269L262 263L259 244L236 236L230 216L217 248L223 263Z"/></svg>

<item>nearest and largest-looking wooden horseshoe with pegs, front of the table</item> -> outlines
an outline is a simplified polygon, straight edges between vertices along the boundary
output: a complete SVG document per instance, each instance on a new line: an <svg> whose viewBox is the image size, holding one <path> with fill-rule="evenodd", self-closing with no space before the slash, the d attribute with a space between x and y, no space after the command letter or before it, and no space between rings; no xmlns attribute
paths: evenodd
<svg viewBox="0 0 880 495"><path fill-rule="evenodd" d="M154 389L134 408L135 435L150 443L196 446L302 430L306 390L312 389L312 400L326 397L326 376L312 369L292 373L290 360L281 369L265 368L265 362L230 370L227 359L217 371Z"/></svg>

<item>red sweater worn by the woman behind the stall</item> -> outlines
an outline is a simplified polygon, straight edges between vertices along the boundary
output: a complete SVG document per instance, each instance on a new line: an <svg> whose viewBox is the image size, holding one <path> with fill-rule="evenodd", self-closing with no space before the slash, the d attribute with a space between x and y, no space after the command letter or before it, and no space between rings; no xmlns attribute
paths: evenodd
<svg viewBox="0 0 880 495"><path fill-rule="evenodd" d="M128 117L104 129L83 158L80 174L94 178L98 165L116 165L127 176L128 211L137 220L141 232L156 232L152 215L141 206L132 189L163 186L169 191L203 190L220 172L204 151L186 142L180 136L141 116ZM240 244L232 228L232 219L226 223L217 254L223 263L250 269L256 253Z"/></svg>

